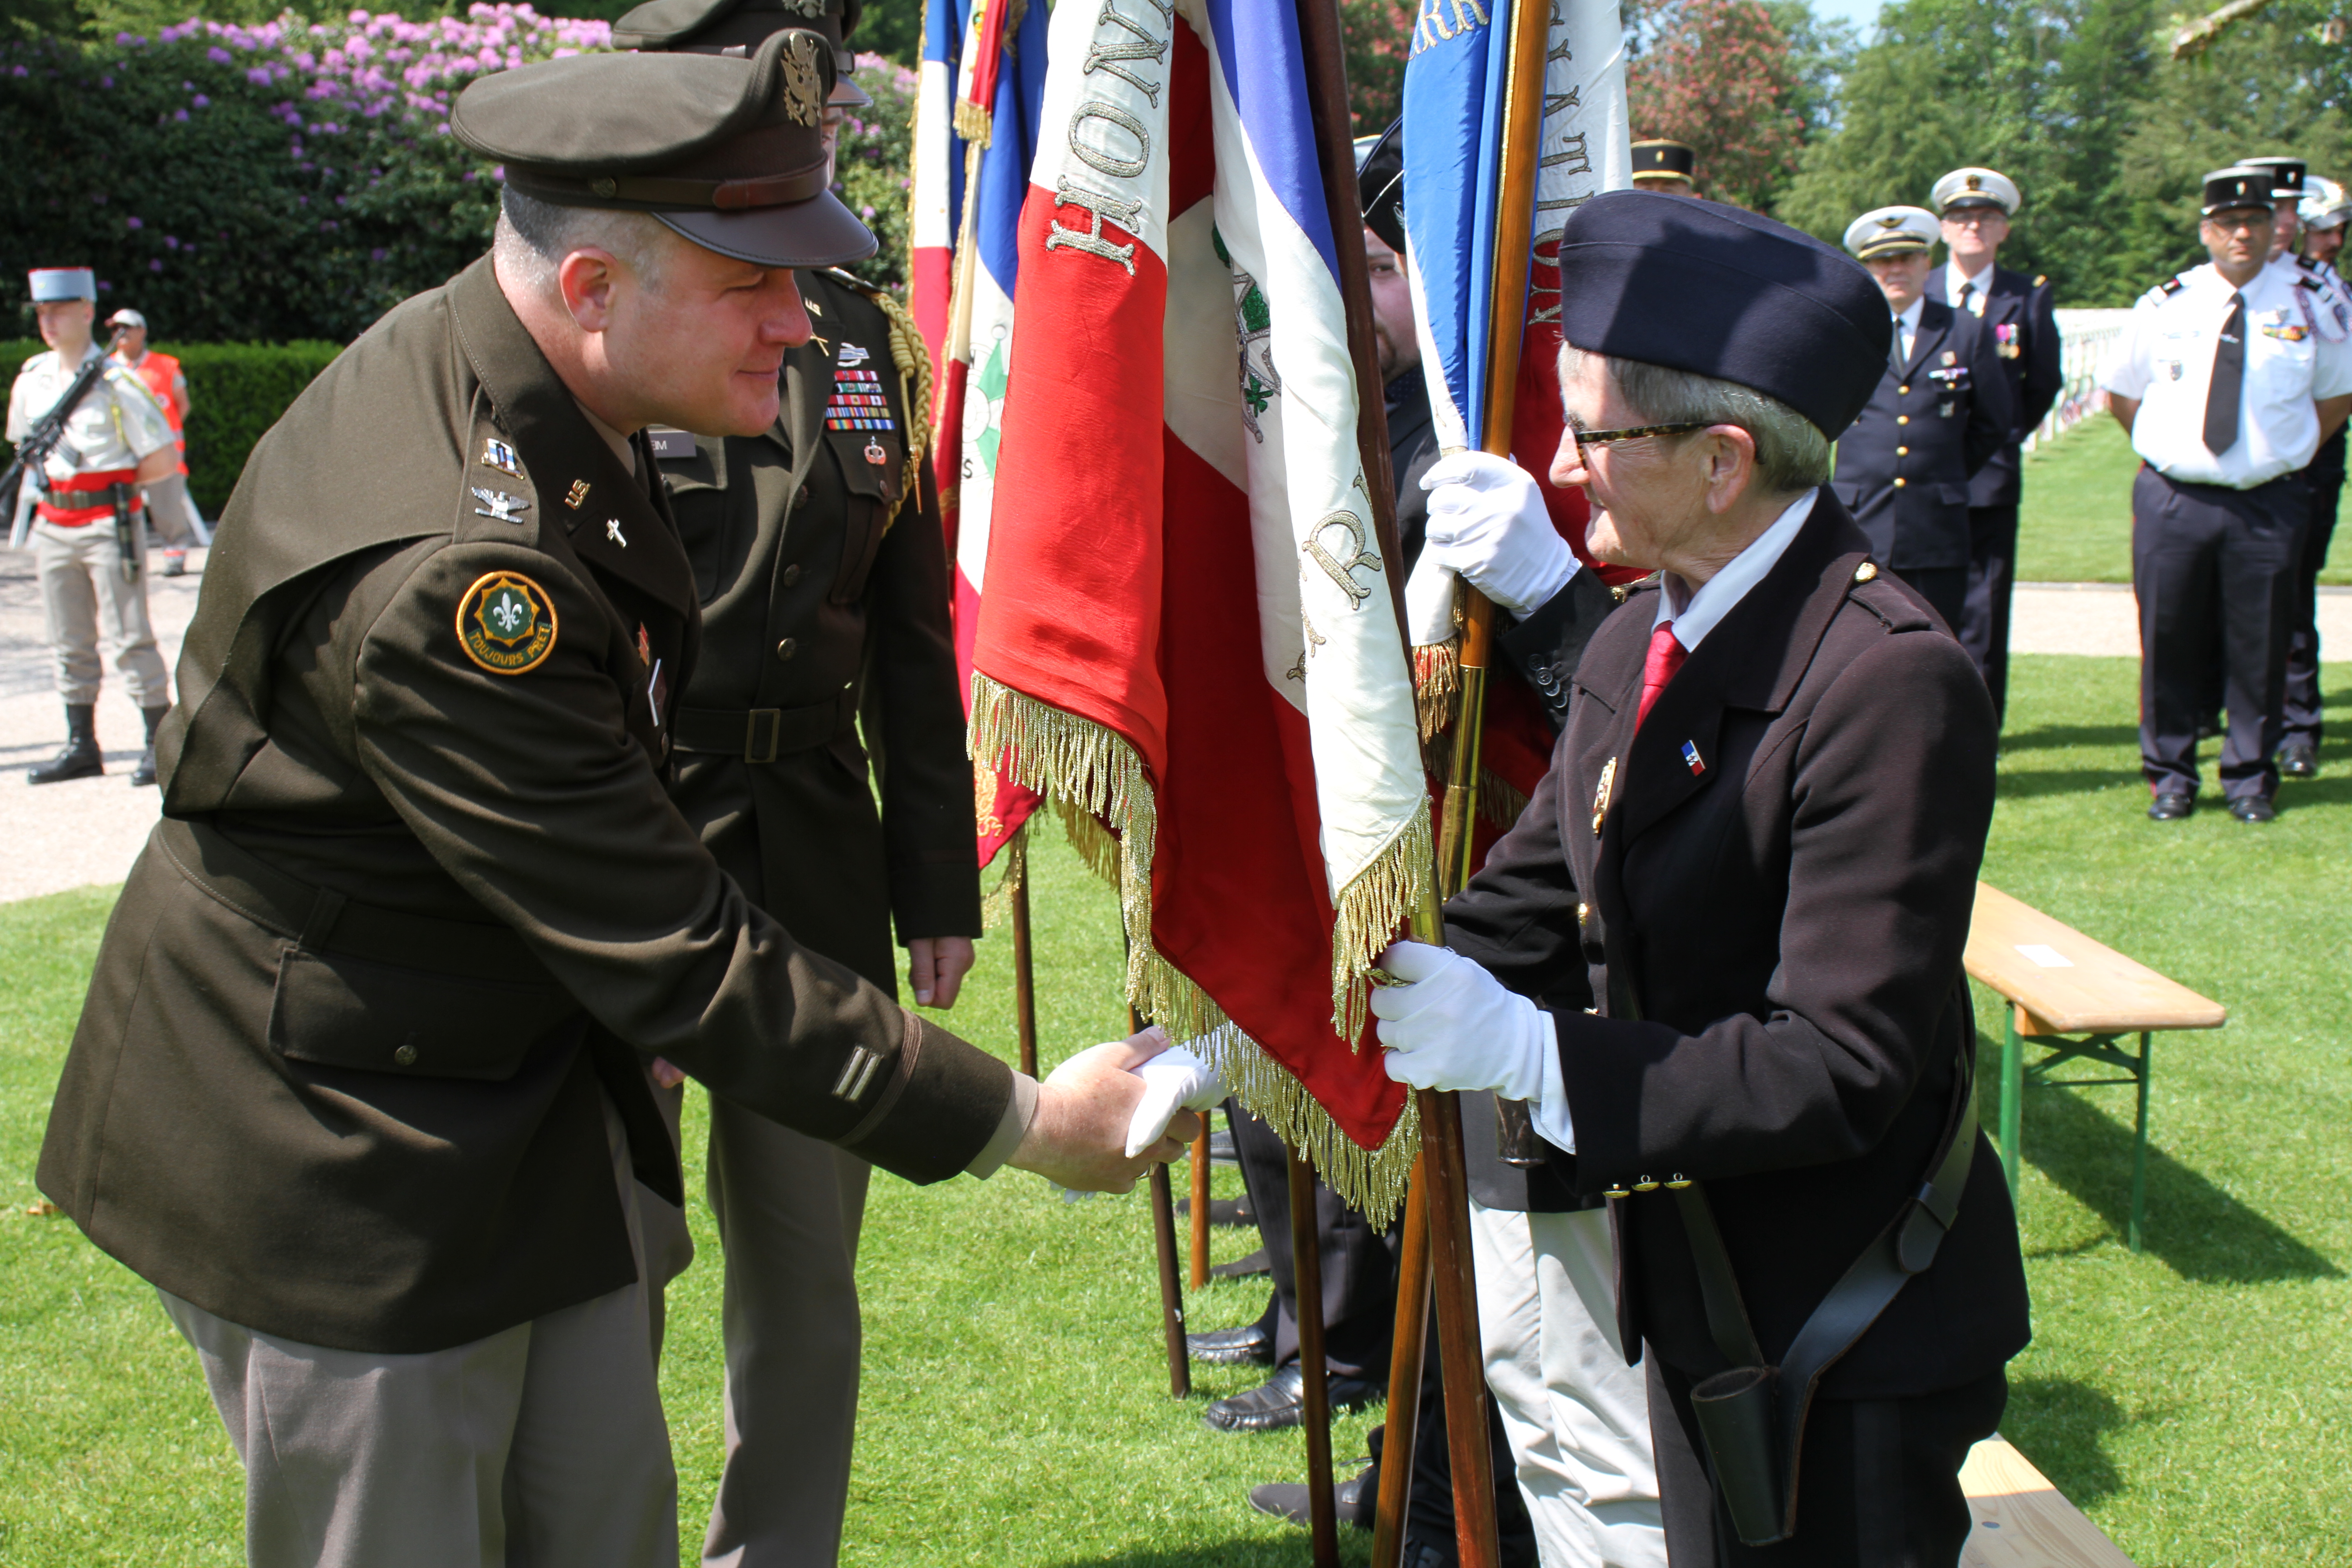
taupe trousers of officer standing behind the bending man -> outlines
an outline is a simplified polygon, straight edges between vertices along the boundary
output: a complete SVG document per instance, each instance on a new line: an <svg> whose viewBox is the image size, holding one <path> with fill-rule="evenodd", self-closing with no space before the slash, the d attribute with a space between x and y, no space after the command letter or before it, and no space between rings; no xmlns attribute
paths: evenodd
<svg viewBox="0 0 2352 1568"><path fill-rule="evenodd" d="M710 1095L727 1253L727 1469L706 1568L833 1568L858 1425L858 1227L873 1166Z"/></svg>

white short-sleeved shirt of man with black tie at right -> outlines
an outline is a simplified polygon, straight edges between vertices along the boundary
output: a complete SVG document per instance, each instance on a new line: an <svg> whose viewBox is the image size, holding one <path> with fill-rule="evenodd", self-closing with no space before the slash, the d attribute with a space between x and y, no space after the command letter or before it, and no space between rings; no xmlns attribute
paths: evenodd
<svg viewBox="0 0 2352 1568"><path fill-rule="evenodd" d="M2171 480L2230 489L2307 465L2319 451L2312 400L2352 393L2352 348L2333 317L2333 289L2305 289L2293 261L2265 266L2246 282L2237 442L2216 456L2204 444L2204 400L2232 287L2211 263L2180 273L2180 284L2140 296L2105 378L2110 393L2140 404L2131 449Z"/></svg>

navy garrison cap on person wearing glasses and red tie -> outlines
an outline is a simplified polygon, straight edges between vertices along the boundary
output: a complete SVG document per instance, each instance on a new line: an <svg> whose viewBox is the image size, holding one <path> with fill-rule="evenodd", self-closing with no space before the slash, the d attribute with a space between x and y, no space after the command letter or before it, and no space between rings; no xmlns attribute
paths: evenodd
<svg viewBox="0 0 2352 1568"><path fill-rule="evenodd" d="M1785 223L1698 197L1604 190L1559 235L1559 336L1778 397L1837 440L1886 371L1879 284Z"/></svg>

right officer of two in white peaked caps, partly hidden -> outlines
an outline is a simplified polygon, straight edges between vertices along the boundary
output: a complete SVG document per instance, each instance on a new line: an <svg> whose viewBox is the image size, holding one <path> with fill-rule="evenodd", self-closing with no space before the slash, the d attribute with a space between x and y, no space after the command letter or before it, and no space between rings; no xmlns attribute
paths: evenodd
<svg viewBox="0 0 2352 1568"><path fill-rule="evenodd" d="M1992 331L2009 378L2011 440L1969 480L1969 599L1952 632L1992 689L1992 712L2009 710L2009 599L2018 564L2023 447L2065 386L2058 313L2046 277L1999 263L2009 219L2023 197L1997 169L1952 169L1929 205L1943 228L1945 263L1926 275L1926 299L1966 310Z"/></svg>

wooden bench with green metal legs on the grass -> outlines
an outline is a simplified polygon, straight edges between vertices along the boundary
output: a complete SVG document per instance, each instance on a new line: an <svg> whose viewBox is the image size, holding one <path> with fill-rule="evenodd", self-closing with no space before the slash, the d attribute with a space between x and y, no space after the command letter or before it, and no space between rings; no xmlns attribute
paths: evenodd
<svg viewBox="0 0 2352 1568"><path fill-rule="evenodd" d="M2147 1211L2147 1041L2159 1030L2218 1030L2230 1011L1983 882L1976 884L1966 966L1973 980L2009 1004L2009 1030L2002 1039L1999 1145L2002 1164L2009 1166L2011 1201L2018 1197L2023 1168L2018 1138L2025 1126L2027 1084L2056 1088L2138 1084L2126 1241L2131 1251L2140 1251L2140 1218ZM2122 1048L2126 1034L2140 1037L2138 1056ZM2049 1056L2027 1065L2025 1046L2049 1046ZM2124 1077L2051 1077L2072 1060L2100 1063Z"/></svg>

